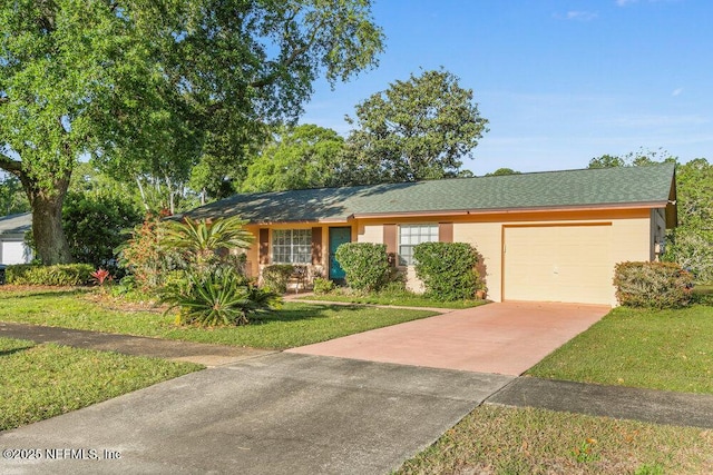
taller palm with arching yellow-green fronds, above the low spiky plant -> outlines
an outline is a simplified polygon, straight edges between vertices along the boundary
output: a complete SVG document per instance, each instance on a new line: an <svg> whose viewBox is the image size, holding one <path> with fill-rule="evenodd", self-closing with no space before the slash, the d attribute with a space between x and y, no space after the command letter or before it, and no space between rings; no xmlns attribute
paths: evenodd
<svg viewBox="0 0 713 475"><path fill-rule="evenodd" d="M255 237L244 229L246 220L237 216L193 220L188 217L182 222L169 221L163 236L163 245L169 248L183 250L188 260L199 268L205 268L211 263L218 260L221 249L247 249Z"/></svg>

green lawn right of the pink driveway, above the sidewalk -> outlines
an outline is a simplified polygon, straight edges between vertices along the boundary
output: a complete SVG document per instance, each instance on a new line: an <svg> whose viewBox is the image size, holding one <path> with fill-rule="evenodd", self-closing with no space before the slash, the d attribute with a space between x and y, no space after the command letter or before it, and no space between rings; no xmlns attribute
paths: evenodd
<svg viewBox="0 0 713 475"><path fill-rule="evenodd" d="M713 394L713 307L618 307L527 374Z"/></svg>

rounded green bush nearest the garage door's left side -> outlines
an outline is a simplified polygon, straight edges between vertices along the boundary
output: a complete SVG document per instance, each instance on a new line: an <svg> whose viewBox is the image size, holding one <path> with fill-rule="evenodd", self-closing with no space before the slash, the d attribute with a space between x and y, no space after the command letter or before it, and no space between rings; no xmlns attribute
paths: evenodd
<svg viewBox="0 0 713 475"><path fill-rule="evenodd" d="M472 298L478 288L478 254L466 243L421 243L413 248L416 275L426 296L452 301Z"/></svg>

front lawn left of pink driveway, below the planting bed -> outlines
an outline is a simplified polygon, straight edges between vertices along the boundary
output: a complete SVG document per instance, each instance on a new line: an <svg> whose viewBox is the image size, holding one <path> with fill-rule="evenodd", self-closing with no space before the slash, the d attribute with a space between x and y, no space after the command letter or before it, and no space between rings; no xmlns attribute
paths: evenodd
<svg viewBox="0 0 713 475"><path fill-rule="evenodd" d="M130 311L120 301L92 301L87 290L0 287L0 321L19 321L117 334L253 348L282 349L434 315L427 310L286 303L243 327L179 327L160 311Z"/></svg>

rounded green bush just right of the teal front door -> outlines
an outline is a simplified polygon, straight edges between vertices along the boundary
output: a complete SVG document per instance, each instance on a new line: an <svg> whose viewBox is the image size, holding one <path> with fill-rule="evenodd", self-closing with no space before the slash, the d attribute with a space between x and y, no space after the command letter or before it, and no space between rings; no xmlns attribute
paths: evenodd
<svg viewBox="0 0 713 475"><path fill-rule="evenodd" d="M383 244L343 244L336 248L336 261L354 290L375 291L389 280L389 256Z"/></svg>

